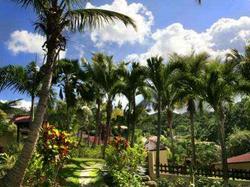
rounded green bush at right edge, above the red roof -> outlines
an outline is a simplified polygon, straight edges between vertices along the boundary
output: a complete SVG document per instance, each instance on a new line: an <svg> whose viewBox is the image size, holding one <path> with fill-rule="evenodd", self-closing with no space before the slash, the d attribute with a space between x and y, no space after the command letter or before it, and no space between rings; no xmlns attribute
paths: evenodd
<svg viewBox="0 0 250 187"><path fill-rule="evenodd" d="M230 156L250 152L250 131L236 130L228 137L228 152Z"/></svg>

